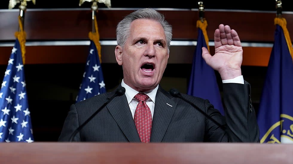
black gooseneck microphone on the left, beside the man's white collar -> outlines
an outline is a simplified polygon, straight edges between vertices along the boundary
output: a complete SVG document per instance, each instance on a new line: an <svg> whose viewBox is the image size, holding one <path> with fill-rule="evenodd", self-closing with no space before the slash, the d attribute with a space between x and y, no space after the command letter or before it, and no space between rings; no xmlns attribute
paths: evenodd
<svg viewBox="0 0 293 164"><path fill-rule="evenodd" d="M125 88L124 87L119 87L116 89L114 95L112 97L110 97L110 99L108 99L108 101L106 101L94 114L91 115L91 117L89 117L83 124L81 124L71 135L69 142L72 142L74 136L83 128L83 126L85 126L89 121L91 121L92 118L94 118L95 115L97 115L101 109L103 109L110 101L112 101L112 99L114 99L114 97L116 96L122 96L125 93Z"/></svg>

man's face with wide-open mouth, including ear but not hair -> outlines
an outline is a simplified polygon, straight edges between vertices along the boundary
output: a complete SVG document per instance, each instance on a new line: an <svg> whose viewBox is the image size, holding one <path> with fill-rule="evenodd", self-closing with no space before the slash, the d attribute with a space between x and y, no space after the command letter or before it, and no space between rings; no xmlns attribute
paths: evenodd
<svg viewBox="0 0 293 164"><path fill-rule="evenodd" d="M137 91L155 88L169 58L163 27L156 21L136 19L124 47L116 46L115 55L127 85Z"/></svg>

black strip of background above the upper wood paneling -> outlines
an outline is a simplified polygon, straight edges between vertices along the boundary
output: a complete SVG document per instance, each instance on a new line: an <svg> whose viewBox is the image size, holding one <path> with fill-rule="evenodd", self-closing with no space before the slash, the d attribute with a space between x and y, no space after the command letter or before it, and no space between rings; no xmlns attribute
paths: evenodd
<svg viewBox="0 0 293 164"><path fill-rule="evenodd" d="M0 9L8 9L9 0L0 1ZM181 9L195 9L198 8L198 1L137 1L137 0L112 0L112 8L181 8ZM229 9L229 10L263 10L263 11L275 11L275 0L255 0L255 1L237 1L237 0L203 0L206 9ZM283 0L283 11L293 11L291 0ZM59 0L59 1L45 1L36 0L36 4L33 5L32 1L28 2L29 9L33 8L89 8L91 2L84 2L82 6L79 6L79 0ZM106 7L102 3L98 3L98 7ZM17 8L17 6L15 7Z"/></svg>

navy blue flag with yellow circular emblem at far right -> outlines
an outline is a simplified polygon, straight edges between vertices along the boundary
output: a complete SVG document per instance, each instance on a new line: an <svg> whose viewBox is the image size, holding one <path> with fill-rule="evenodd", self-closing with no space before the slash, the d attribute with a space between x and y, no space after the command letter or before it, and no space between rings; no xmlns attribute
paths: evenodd
<svg viewBox="0 0 293 164"><path fill-rule="evenodd" d="M274 39L257 118L260 142L293 143L293 62L278 24Z"/></svg>

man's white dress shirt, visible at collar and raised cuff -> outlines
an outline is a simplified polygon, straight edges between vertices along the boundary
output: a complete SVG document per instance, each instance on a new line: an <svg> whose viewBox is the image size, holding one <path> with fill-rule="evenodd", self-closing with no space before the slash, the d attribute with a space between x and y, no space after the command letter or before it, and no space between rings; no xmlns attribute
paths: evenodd
<svg viewBox="0 0 293 164"><path fill-rule="evenodd" d="M241 75L241 76L235 77L234 79L222 80L222 82L223 83L240 83L240 84L244 84L244 79L243 79L243 76ZM130 111L132 113L132 118L134 118L134 113L135 113L135 110L136 110L136 106L138 104L138 101L134 98L134 96L136 94L138 94L139 92L134 90L134 89L132 89L128 85L126 85L124 83L124 79L122 79L121 86L125 88L125 95L126 95L126 98L127 98L127 102L128 102ZM150 90L148 92L144 92L147 96L149 96L149 99L146 100L146 104L147 104L147 106L149 106L149 109L151 110L152 118L153 118L153 115L154 115L155 99L156 99L156 94L157 94L158 87L159 86L157 86L153 90Z"/></svg>

